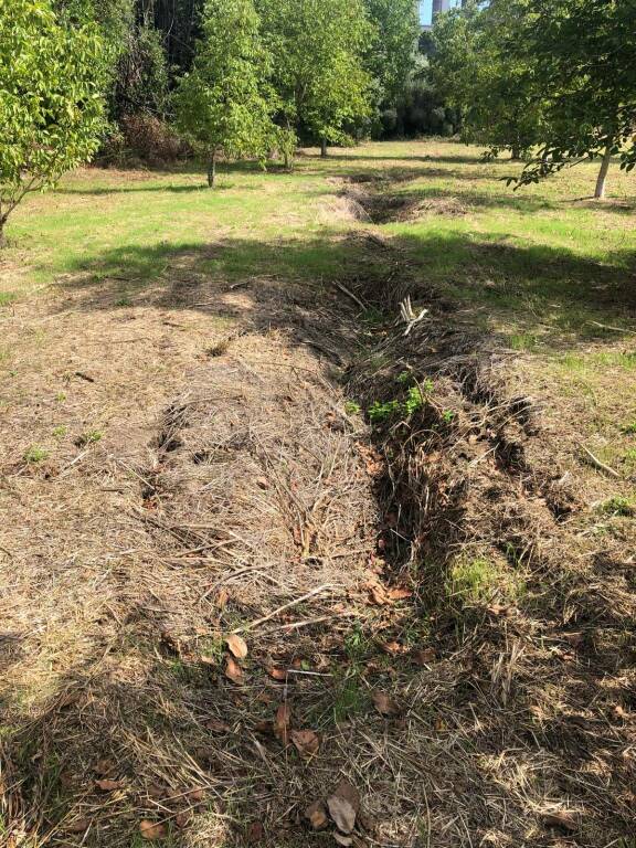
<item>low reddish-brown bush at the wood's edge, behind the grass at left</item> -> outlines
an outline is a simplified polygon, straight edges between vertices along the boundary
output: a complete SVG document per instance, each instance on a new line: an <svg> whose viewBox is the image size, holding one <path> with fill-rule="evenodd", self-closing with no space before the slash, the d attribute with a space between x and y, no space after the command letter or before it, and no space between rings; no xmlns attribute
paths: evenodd
<svg viewBox="0 0 636 848"><path fill-rule="evenodd" d="M189 145L166 121L147 114L125 115L104 144L99 161L157 167L173 165L191 153Z"/></svg>

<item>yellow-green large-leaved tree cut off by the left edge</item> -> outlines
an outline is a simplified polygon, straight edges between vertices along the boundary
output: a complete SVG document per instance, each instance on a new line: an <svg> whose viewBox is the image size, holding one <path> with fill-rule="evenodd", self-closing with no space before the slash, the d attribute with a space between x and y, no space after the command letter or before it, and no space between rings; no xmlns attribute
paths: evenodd
<svg viewBox="0 0 636 848"><path fill-rule="evenodd" d="M97 150L105 53L94 26L62 26L50 0L0 0L0 243L29 192Z"/></svg>

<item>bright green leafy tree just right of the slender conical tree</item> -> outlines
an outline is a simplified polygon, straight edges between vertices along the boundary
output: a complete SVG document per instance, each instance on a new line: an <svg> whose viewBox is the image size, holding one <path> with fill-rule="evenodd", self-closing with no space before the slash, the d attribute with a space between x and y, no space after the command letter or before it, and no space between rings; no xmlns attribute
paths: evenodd
<svg viewBox="0 0 636 848"><path fill-rule="evenodd" d="M258 0L273 56L277 121L328 144L346 142L370 115L362 52L372 30L361 0Z"/></svg>

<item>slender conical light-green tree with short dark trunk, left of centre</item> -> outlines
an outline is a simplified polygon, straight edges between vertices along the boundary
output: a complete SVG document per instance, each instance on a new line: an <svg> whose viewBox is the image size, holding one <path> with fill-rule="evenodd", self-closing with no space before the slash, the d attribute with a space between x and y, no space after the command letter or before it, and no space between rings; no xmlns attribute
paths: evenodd
<svg viewBox="0 0 636 848"><path fill-rule="evenodd" d="M265 160L274 134L274 102L252 0L206 0L202 29L174 106L179 128L206 158L212 188L220 152Z"/></svg>

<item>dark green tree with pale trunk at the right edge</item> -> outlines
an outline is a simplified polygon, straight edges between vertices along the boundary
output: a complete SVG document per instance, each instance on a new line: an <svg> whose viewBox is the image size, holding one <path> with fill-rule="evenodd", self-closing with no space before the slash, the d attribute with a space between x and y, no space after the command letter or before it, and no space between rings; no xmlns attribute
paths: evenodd
<svg viewBox="0 0 636 848"><path fill-rule="evenodd" d="M603 198L613 156L627 170L636 166L634 0L516 0L516 52L531 57L545 104L539 153L517 182L601 159L594 197Z"/></svg>

